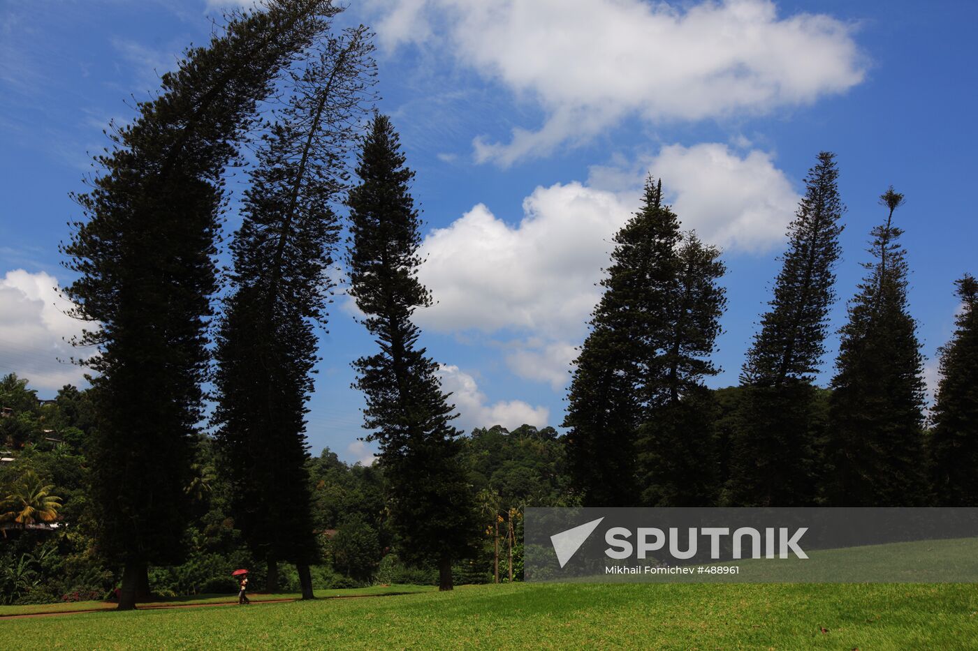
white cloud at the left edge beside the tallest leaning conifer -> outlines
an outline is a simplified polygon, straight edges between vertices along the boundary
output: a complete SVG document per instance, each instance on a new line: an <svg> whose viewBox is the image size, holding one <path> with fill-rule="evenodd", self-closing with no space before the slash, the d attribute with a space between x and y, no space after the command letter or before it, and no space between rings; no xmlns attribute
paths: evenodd
<svg viewBox="0 0 978 651"><path fill-rule="evenodd" d="M78 353L67 343L81 323L67 316L71 304L57 286L53 276L22 269L0 279L0 373L16 372L32 388L83 381L83 369L68 363Z"/></svg>

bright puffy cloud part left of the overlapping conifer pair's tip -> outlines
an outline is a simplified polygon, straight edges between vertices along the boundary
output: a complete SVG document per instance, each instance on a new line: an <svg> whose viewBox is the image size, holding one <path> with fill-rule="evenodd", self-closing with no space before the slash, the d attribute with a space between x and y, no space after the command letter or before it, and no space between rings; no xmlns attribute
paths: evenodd
<svg viewBox="0 0 978 651"><path fill-rule="evenodd" d="M580 183L537 188L515 227L478 204L422 244L421 281L438 303L418 313L442 331L515 328L546 336L579 332L609 239L629 207Z"/></svg>

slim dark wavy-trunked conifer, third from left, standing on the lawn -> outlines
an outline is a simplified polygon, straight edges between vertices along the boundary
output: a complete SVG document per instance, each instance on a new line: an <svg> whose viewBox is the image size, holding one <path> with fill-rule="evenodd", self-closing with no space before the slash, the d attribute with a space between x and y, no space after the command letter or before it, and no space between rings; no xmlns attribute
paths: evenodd
<svg viewBox="0 0 978 651"><path fill-rule="evenodd" d="M367 399L368 440L377 441L390 485L391 524L398 552L435 559L439 589L452 589L452 560L465 553L478 524L459 459L460 432L442 392L438 365L418 347L415 310L431 305L417 278L421 222L399 138L390 120L376 115L350 191L350 294L380 346L354 362L356 387Z"/></svg>

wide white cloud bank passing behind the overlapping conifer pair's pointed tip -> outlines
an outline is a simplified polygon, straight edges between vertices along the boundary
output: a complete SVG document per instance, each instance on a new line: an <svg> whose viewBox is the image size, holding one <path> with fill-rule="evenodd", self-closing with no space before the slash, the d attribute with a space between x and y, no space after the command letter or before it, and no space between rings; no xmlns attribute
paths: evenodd
<svg viewBox="0 0 978 651"><path fill-rule="evenodd" d="M559 390L600 298L611 239L639 207L649 170L662 177L684 229L734 251L778 244L799 200L766 152L673 145L618 163L593 167L587 184L538 187L514 225L479 203L428 234L419 277L438 302L418 313L419 323L527 335L506 344L509 368Z"/></svg>

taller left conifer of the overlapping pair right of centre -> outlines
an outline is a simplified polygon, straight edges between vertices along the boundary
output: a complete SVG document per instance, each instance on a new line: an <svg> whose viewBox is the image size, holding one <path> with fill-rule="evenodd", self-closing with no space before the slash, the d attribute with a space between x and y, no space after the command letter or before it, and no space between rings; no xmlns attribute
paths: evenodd
<svg viewBox="0 0 978 651"><path fill-rule="evenodd" d="M645 182L643 206L615 234L604 293L575 360L567 395L567 465L585 505L639 503L639 425L664 373L655 351L668 346L668 305L675 293L682 239L662 184Z"/></svg>

